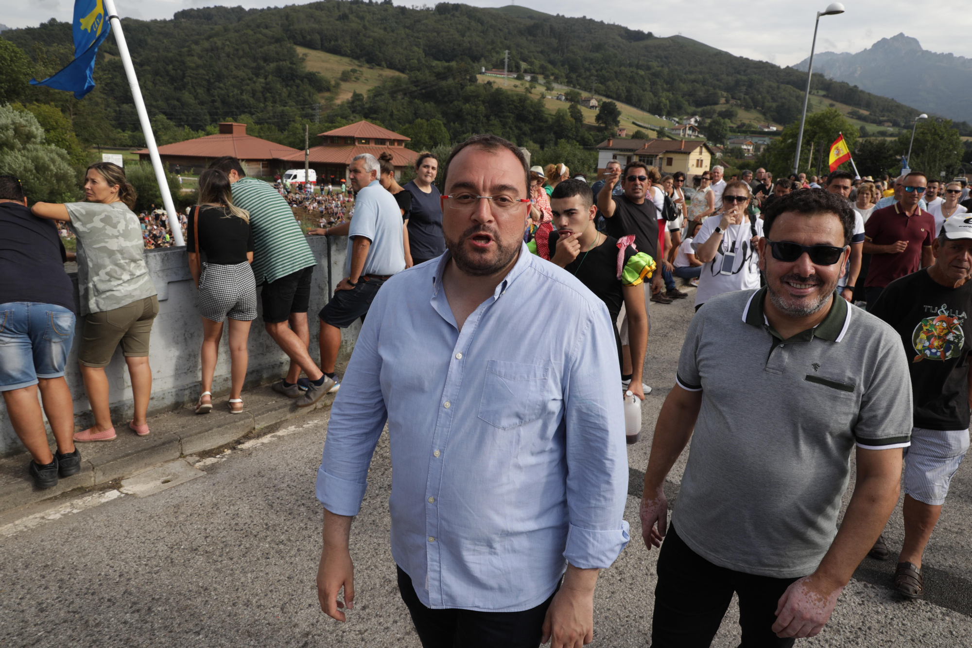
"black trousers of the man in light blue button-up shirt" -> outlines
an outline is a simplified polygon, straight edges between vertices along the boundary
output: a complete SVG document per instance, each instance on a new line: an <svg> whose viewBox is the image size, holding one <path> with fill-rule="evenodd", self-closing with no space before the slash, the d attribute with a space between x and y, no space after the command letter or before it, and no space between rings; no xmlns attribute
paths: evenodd
<svg viewBox="0 0 972 648"><path fill-rule="evenodd" d="M537 607L522 612L434 610L422 604L412 587L412 579L401 567L398 570L401 600L412 615L423 648L538 648L540 645L540 630L553 594Z"/></svg>

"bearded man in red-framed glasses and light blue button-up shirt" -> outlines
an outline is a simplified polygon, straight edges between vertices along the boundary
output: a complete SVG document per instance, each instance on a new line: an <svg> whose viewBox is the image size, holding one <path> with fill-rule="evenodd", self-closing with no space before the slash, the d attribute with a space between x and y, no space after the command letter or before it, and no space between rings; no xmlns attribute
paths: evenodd
<svg viewBox="0 0 972 648"><path fill-rule="evenodd" d="M317 478L318 595L334 619L354 597L351 520L387 421L392 556L423 645L593 636L598 570L628 543L620 369L604 303L523 245L527 172L500 137L456 147L448 251L390 279L368 312Z"/></svg>

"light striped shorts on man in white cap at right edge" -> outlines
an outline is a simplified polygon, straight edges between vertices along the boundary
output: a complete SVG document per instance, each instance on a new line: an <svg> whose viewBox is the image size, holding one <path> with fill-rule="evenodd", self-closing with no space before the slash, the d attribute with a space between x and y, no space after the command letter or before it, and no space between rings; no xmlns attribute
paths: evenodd
<svg viewBox="0 0 972 648"><path fill-rule="evenodd" d="M930 506L944 504L952 476L968 449L968 430L912 428L911 446L904 450L905 494Z"/></svg>

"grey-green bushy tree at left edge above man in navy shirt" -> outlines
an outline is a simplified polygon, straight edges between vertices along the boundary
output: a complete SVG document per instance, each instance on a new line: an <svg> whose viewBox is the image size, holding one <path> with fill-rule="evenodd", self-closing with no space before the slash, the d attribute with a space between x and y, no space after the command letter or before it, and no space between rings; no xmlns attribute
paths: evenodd
<svg viewBox="0 0 972 648"><path fill-rule="evenodd" d="M37 118L10 105L0 106L0 173L17 176L31 201L78 199L78 174L63 149L45 143Z"/></svg>

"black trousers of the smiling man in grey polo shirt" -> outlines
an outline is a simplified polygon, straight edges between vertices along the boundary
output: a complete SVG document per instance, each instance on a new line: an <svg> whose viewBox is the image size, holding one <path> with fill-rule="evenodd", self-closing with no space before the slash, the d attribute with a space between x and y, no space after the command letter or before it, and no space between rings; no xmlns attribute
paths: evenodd
<svg viewBox="0 0 972 648"><path fill-rule="evenodd" d="M658 557L658 586L651 626L651 648L704 648L719 630L732 594L739 594L740 648L783 648L771 630L777 603L796 578L770 578L712 564L693 552L670 526Z"/></svg>

